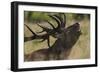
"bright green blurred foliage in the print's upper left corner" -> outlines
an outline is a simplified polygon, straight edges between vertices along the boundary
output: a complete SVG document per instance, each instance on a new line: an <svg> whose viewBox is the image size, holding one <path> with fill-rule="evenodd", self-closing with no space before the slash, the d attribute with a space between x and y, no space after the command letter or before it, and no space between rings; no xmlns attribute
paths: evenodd
<svg viewBox="0 0 100 73"><path fill-rule="evenodd" d="M24 13L24 19L27 22L43 22L46 20L50 20L50 18L48 17L48 13L44 13L44 12L31 12L31 11L25 11Z"/></svg>

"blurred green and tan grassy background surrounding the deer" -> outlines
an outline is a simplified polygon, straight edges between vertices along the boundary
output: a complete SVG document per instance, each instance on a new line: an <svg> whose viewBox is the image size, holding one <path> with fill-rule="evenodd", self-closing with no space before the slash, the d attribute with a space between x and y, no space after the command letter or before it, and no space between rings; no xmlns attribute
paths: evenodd
<svg viewBox="0 0 100 73"><path fill-rule="evenodd" d="M43 26L51 28L45 21L48 20L57 24L48 16L51 14L57 14L55 12L32 12L24 11L24 23L27 24L34 32L41 31L42 28L36 24L39 23ZM72 51L68 59L87 59L90 58L90 15L79 13L65 13L66 15L66 28L75 22L80 23L82 35L76 44L72 47ZM24 27L24 36L32 36L32 33ZM50 45L53 45L56 38L50 37ZM40 42L40 40L32 40L24 43L24 54L29 54L33 51L48 48L47 42Z"/></svg>

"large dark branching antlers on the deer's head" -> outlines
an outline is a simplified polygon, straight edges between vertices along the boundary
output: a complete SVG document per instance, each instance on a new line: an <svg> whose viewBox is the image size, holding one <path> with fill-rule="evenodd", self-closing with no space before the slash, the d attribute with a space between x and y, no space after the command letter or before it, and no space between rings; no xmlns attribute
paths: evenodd
<svg viewBox="0 0 100 73"><path fill-rule="evenodd" d="M55 36L55 33L56 32L59 32L61 31L61 28L65 28L65 24L66 24L66 16L65 14L61 13L59 15L48 15L50 18L52 18L53 20L55 20L58 24L57 27L54 27L54 25L49 22L49 21L46 21L48 24L50 24L50 26L53 28L53 29L49 29L47 27L44 27L44 26L41 26L39 24L37 24L39 27L41 27L43 30L41 32L38 32L38 33L42 33L44 31L46 31L47 33L44 34L44 35L37 35L36 33L34 33L30 28L29 26L27 26L25 24L25 26L31 31L31 33L33 34L33 36L31 37L24 37L24 41L27 42L27 41L30 41L30 40L34 40L34 39L43 39L43 41L47 40L47 43L48 43L48 46L50 47L50 35L51 36Z"/></svg>

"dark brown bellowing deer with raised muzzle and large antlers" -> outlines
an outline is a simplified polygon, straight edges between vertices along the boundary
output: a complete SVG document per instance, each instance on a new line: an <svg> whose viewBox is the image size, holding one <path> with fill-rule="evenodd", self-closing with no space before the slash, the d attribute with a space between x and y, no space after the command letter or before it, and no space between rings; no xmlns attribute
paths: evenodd
<svg viewBox="0 0 100 73"><path fill-rule="evenodd" d="M24 37L24 42L42 39L42 41L47 40L48 48L43 48L34 51L30 54L25 55L26 61L42 61L42 60L64 60L67 59L70 54L72 47L75 45L80 35L82 34L80 29L80 24L78 22L66 26L66 15L64 13L48 15L52 20L55 20L57 27L53 25L50 21L46 21L51 27L47 28L40 24L37 24L43 30L38 33L46 32L46 34L38 35L28 25L25 26L33 34L31 37ZM55 43L50 46L50 36L56 38Z"/></svg>

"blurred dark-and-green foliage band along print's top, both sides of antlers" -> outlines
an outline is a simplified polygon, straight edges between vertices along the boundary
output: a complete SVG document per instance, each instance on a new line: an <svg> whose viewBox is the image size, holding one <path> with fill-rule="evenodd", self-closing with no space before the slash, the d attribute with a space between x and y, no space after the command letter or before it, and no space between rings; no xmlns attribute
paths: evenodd
<svg viewBox="0 0 100 73"><path fill-rule="evenodd" d="M57 13L25 11L24 20L27 22L32 22L32 23L44 22L46 20L50 20L50 17L48 15L51 15L51 14L57 14ZM67 21L70 21L73 19L77 21L81 21L84 18L90 19L89 14L75 14L75 13L65 13L65 14L67 17Z"/></svg>

